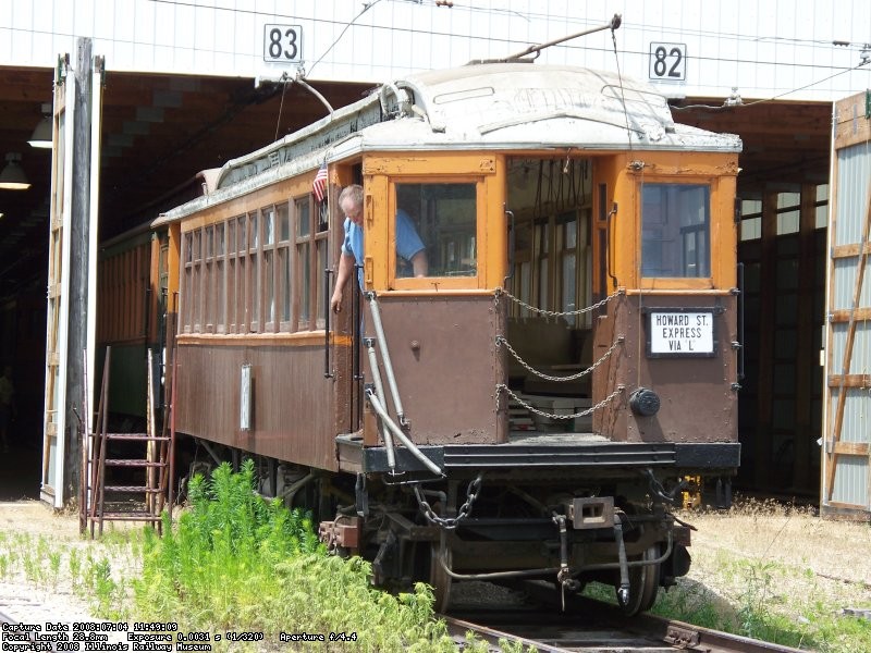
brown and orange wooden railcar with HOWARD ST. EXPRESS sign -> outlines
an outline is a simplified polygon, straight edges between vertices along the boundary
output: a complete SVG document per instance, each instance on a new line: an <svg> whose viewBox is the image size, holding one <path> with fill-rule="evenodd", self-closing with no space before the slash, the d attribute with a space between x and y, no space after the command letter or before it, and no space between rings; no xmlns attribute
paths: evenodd
<svg viewBox="0 0 871 653"><path fill-rule="evenodd" d="M387 84L156 221L175 428L255 456L380 584L427 579L445 607L455 581L600 581L646 609L689 567L684 477L739 461L739 149L611 73ZM353 184L364 246L331 316Z"/></svg>

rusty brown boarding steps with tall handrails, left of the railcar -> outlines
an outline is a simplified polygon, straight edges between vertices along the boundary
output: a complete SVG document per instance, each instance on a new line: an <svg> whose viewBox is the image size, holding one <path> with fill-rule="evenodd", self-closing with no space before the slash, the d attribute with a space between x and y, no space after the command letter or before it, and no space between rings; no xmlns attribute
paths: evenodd
<svg viewBox="0 0 871 653"><path fill-rule="evenodd" d="M151 355L148 355L148 430L145 433L108 432L109 367L111 347L106 349L100 401L95 429L89 433L89 447L83 447L83 465L89 452L89 473L83 468L83 479L90 481L83 488L82 504L94 539L95 527L102 535L105 521L145 521L162 532L161 512L172 505L170 482L174 442L167 431L169 419L163 420L160 434L156 433L154 393L151 392ZM137 451L137 446L140 447ZM131 454L131 451L136 453ZM140 453L140 457L136 454ZM107 483L107 469L126 470L124 483ZM135 477L136 480L130 480ZM84 485L84 483L83 483ZM84 527L79 510L79 525Z"/></svg>

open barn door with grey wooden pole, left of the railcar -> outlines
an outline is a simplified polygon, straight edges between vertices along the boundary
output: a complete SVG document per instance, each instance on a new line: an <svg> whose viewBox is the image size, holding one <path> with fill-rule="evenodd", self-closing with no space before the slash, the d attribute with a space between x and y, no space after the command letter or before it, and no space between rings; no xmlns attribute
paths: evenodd
<svg viewBox="0 0 871 653"><path fill-rule="evenodd" d="M59 57L54 73L40 497L56 508L75 496L78 420L94 414L85 387L94 380L102 70L90 39L78 39L75 64Z"/></svg>

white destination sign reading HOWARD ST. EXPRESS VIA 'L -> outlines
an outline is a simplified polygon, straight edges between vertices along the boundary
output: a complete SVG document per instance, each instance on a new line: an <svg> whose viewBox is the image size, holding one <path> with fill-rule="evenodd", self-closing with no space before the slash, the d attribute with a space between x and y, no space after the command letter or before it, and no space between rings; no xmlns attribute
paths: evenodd
<svg viewBox="0 0 871 653"><path fill-rule="evenodd" d="M650 309L648 356L713 356L711 309Z"/></svg>

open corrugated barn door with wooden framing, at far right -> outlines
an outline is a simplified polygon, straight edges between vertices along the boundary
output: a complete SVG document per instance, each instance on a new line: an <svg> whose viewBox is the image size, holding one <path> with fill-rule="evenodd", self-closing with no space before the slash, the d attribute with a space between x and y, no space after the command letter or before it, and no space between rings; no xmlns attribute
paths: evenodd
<svg viewBox="0 0 871 653"><path fill-rule="evenodd" d="M871 517L871 101L835 106L822 513Z"/></svg>

